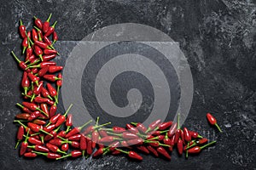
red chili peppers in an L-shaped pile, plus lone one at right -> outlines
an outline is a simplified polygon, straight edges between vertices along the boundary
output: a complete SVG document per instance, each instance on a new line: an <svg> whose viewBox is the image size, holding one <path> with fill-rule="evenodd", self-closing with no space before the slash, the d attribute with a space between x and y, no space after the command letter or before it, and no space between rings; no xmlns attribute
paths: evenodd
<svg viewBox="0 0 256 170"><path fill-rule="evenodd" d="M53 47L58 40L55 32L57 22L49 26L51 14L44 22L34 18L35 26L32 31L26 31L20 20L19 31L23 38L22 54L25 54L25 61L21 61L11 52L23 71L21 87L24 91L21 94L25 101L22 105L17 103L22 113L17 114L14 121L20 125L15 145L16 149L21 143L20 156L31 158L42 155L59 160L70 156L87 158L123 153L134 160L142 161L143 157L137 154L142 152L171 160L175 147L180 156L185 153L188 157L189 154L199 153L205 147L216 143L208 143L208 139L197 132L189 131L187 127L181 128L179 114L177 122L156 120L148 127L140 122L131 122L125 127L104 128L110 122L99 125L99 117L95 125L90 125L90 120L81 127L73 127L73 115L68 114L73 105L64 114L56 114L62 83L60 71L63 67L50 59L55 59L58 54ZM49 37L52 37L52 42ZM59 73L56 76L57 72ZM216 119L210 113L207 113L207 120L218 127ZM219 127L218 130L222 132Z"/></svg>

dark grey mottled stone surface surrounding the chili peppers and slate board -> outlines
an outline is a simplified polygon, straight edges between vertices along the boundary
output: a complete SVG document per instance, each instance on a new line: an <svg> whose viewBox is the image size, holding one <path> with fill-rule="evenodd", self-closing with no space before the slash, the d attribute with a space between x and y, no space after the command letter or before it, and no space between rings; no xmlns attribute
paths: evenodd
<svg viewBox="0 0 256 170"><path fill-rule="evenodd" d="M33 3L32 3L33 2ZM200 156L172 161L143 156L142 162L124 156L68 161L28 161L14 150L19 110L21 71L9 52L20 50L17 27L32 16L53 13L60 40L78 41L103 26L134 22L168 34L188 58L194 79L194 100L185 124L218 144ZM1 169L256 169L256 1L255 0L106 0L1 1ZM214 112L224 133L209 127L205 114Z"/></svg>

